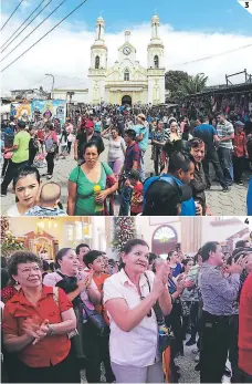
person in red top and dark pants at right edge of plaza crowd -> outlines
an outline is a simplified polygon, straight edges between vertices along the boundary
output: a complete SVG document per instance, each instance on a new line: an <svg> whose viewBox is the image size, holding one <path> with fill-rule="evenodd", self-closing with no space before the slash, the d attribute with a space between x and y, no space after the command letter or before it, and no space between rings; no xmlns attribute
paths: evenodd
<svg viewBox="0 0 252 384"><path fill-rule="evenodd" d="M238 185L243 185L242 174L244 168L244 157L248 157L246 138L244 124L235 122L234 146L233 146L233 178Z"/></svg>

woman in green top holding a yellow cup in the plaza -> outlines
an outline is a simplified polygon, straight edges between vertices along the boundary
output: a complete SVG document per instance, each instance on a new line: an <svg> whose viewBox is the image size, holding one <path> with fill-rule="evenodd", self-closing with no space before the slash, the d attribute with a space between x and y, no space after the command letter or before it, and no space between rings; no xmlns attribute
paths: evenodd
<svg viewBox="0 0 252 384"><path fill-rule="evenodd" d="M84 163L75 167L69 178L67 214L70 216L101 216L106 197L118 188L115 175L107 164L99 162L96 143L84 147ZM115 184L106 188L107 177ZM95 193L96 190L96 193Z"/></svg>

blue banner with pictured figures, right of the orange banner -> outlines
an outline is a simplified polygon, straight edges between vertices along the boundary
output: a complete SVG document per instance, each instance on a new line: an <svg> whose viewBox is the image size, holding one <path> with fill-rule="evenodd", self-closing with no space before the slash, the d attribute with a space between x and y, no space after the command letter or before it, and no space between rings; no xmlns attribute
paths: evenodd
<svg viewBox="0 0 252 384"><path fill-rule="evenodd" d="M65 100L33 100L31 103L32 118L40 113L44 118L59 118L61 124L65 123L66 101Z"/></svg>

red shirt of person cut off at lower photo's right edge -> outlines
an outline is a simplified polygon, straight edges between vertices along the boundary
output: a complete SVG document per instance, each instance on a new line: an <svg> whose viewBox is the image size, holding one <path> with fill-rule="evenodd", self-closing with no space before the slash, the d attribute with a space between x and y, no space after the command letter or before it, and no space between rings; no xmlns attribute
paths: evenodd
<svg viewBox="0 0 252 384"><path fill-rule="evenodd" d="M242 287L239 305L239 367L252 375L252 272Z"/></svg>

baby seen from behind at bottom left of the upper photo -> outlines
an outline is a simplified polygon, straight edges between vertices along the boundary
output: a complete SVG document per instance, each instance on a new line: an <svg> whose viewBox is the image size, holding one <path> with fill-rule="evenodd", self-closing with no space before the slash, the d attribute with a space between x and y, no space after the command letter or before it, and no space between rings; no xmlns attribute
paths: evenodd
<svg viewBox="0 0 252 384"><path fill-rule="evenodd" d="M59 184L50 181L42 186L40 193L40 205L32 207L25 216L67 216L60 208L61 187Z"/></svg>

